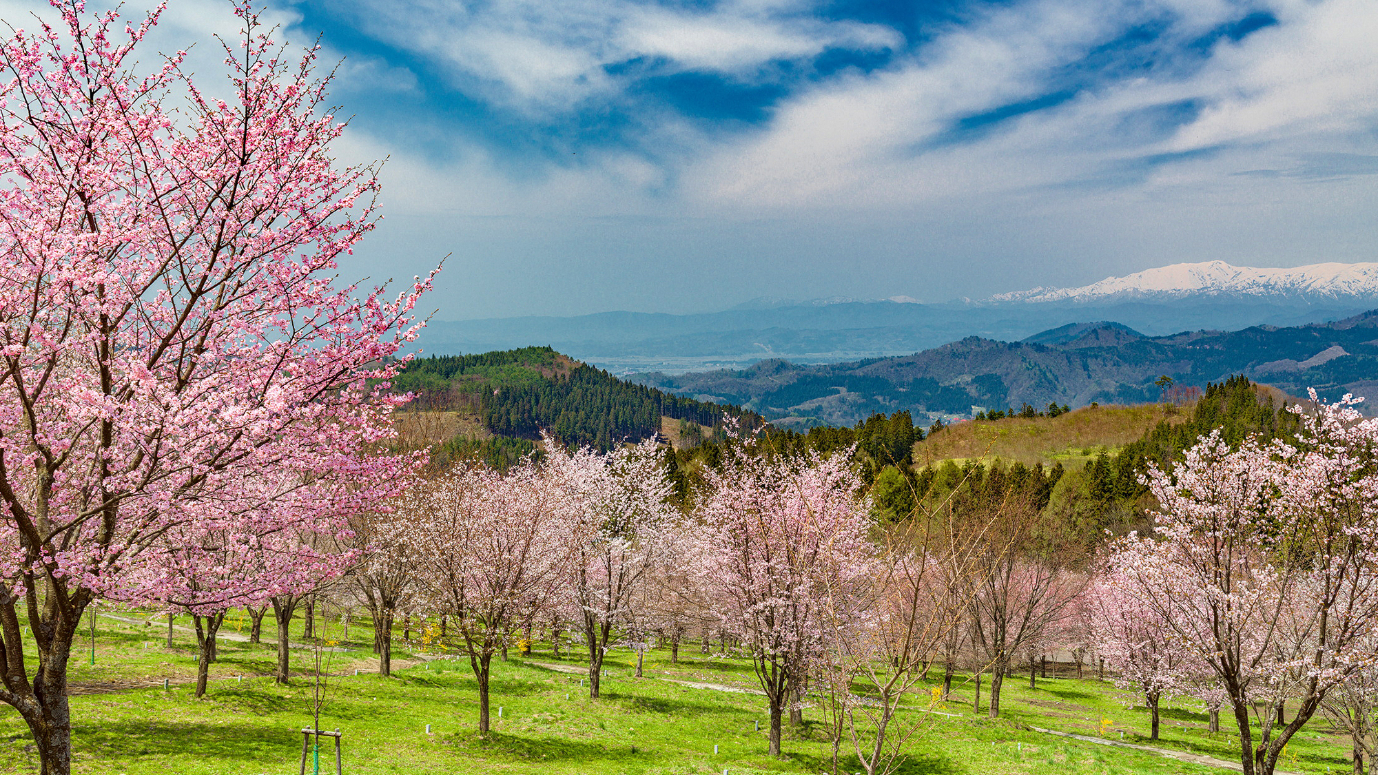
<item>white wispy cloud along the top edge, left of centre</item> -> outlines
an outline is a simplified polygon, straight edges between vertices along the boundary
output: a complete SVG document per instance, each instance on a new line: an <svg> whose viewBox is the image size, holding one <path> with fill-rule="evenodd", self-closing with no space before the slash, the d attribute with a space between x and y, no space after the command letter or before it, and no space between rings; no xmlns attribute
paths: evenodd
<svg viewBox="0 0 1378 775"><path fill-rule="evenodd" d="M569 110L615 95L606 68L638 58L668 69L741 76L830 47L876 50L900 36L879 25L823 21L790 3L725 3L671 11L631 0L441 0L339 3L360 29L448 72L453 84L525 113Z"/></svg>

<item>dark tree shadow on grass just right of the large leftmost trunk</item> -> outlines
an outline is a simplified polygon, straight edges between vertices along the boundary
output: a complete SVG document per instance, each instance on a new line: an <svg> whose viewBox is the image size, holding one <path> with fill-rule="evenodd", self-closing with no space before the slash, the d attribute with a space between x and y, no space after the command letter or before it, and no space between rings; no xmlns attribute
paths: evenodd
<svg viewBox="0 0 1378 775"><path fill-rule="evenodd" d="M267 761L292 756L300 749L300 732L285 727L130 720L83 724L73 743L98 758L190 753L219 761Z"/></svg>

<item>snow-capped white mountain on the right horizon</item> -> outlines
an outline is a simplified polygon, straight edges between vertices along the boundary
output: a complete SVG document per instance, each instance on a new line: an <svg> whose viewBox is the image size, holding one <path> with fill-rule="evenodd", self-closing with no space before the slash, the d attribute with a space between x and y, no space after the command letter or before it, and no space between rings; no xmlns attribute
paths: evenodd
<svg viewBox="0 0 1378 775"><path fill-rule="evenodd" d="M1378 263L1313 263L1293 269L1232 266L1224 261L1174 263L1107 277L1080 288L996 294L991 302L1169 301L1191 296L1290 301L1378 299Z"/></svg>

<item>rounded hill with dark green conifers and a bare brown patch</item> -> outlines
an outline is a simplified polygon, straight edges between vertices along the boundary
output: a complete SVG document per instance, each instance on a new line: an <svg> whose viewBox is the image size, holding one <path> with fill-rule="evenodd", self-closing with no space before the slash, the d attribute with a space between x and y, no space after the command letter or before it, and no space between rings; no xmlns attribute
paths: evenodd
<svg viewBox="0 0 1378 775"><path fill-rule="evenodd" d="M531 441L544 429L565 444L598 450L655 436L661 418L708 427L721 426L723 416L751 426L762 422L737 407L623 382L551 348L416 359L393 389L416 394L408 411L466 412L496 437Z"/></svg>

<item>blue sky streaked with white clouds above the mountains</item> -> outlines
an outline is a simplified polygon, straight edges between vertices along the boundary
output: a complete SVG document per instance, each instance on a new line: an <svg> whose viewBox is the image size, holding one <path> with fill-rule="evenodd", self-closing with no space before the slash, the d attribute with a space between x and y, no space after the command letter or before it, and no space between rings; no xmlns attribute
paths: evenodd
<svg viewBox="0 0 1378 775"><path fill-rule="evenodd" d="M11 19L32 4L0 3ZM440 319L1374 261L1372 0L274 0ZM169 0L158 40L226 6ZM208 48L208 47L205 47ZM209 68L209 61L207 65Z"/></svg>

